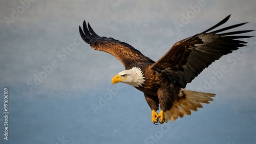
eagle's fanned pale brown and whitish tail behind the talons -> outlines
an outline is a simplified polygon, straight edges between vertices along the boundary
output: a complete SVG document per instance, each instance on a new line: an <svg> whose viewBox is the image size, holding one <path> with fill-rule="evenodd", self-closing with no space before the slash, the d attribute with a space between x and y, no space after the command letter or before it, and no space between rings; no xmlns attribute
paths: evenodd
<svg viewBox="0 0 256 144"><path fill-rule="evenodd" d="M197 111L197 108L202 108L201 103L210 103L215 94L202 93L189 91L185 89L180 90L180 94L177 100L174 101L172 109L164 112L165 122L169 120L175 121L176 119L183 118L184 114L190 115L191 111Z"/></svg>

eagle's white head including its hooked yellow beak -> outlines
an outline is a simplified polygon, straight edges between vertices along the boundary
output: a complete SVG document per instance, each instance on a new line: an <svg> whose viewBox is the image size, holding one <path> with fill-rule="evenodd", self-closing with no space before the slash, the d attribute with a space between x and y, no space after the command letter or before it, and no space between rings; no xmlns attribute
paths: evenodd
<svg viewBox="0 0 256 144"><path fill-rule="evenodd" d="M123 82L132 85L133 87L142 87L145 77L140 68L133 67L130 70L124 70L115 75L112 79L112 84Z"/></svg>

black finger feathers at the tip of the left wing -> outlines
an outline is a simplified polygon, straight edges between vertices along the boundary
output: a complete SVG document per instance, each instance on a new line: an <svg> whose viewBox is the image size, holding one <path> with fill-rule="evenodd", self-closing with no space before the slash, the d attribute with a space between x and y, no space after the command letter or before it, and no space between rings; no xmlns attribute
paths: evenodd
<svg viewBox="0 0 256 144"><path fill-rule="evenodd" d="M82 24L82 27L83 27L83 31L82 31L82 28L81 26L79 26L79 32L80 32L80 36L81 38L86 42L86 43L90 43L90 40L92 38L97 38L97 37L100 37L98 36L92 29L91 25L89 24L88 22L88 27L86 25L86 21L84 20L83 21L83 24ZM89 29L88 29L89 28Z"/></svg>

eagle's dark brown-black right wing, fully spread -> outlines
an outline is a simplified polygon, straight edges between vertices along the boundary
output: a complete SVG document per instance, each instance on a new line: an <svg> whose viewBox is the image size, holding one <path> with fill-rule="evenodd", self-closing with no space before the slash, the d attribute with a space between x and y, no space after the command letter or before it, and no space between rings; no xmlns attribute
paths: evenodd
<svg viewBox="0 0 256 144"><path fill-rule="evenodd" d="M200 34L175 43L151 68L169 79L179 82L181 87L185 88L188 82L191 82L212 62L219 60L221 56L231 53L239 47L246 46L244 45L246 42L236 39L250 38L251 36L230 35L251 32L250 30L219 34L231 28L244 25L245 23L231 25L214 32L209 32L225 23L229 17L230 15Z"/></svg>

